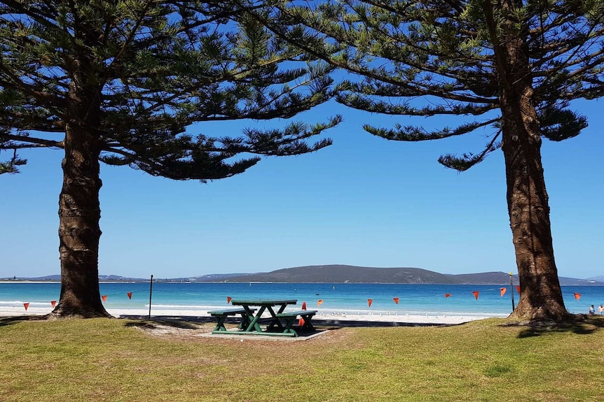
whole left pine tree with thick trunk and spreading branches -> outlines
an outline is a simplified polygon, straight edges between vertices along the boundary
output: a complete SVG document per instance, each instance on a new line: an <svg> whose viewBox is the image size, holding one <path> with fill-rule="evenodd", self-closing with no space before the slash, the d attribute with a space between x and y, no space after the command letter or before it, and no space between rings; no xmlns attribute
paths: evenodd
<svg viewBox="0 0 604 402"><path fill-rule="evenodd" d="M109 317L98 280L100 162L205 182L242 173L259 155L300 155L331 144L306 140L338 124L339 116L233 137L187 131L197 122L287 119L330 98L331 68L313 64L246 17L262 6L0 5L0 152L8 154L0 173L18 173L26 163L19 150L64 152L61 293L49 317Z"/></svg>

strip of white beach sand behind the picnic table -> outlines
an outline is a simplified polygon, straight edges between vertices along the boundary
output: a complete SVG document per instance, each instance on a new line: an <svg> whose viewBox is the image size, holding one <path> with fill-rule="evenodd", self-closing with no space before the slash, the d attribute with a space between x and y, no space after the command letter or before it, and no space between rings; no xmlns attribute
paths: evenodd
<svg viewBox="0 0 604 402"><path fill-rule="evenodd" d="M15 317L20 315L45 315L50 313L52 308L46 307L32 307L27 308L16 306L0 306L0 317ZM107 312L114 317L149 317L149 310L141 309L111 309L108 308ZM207 314L207 310L151 310L151 319L159 319L161 317L178 317L181 320L186 320L188 317L191 320L198 320L200 318L210 319L210 315ZM356 322L357 324L362 322L376 322L376 323L392 323L393 325L399 324L422 324L422 325L442 325L442 324L462 324L464 322L470 322L474 320L484 320L489 317L499 317L499 315L409 315L409 314L348 314L348 313L335 313L327 310L319 310L315 315L315 321L317 324L320 322L327 322L329 324L344 324L345 322Z"/></svg>

